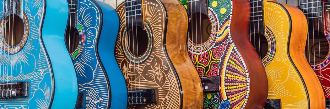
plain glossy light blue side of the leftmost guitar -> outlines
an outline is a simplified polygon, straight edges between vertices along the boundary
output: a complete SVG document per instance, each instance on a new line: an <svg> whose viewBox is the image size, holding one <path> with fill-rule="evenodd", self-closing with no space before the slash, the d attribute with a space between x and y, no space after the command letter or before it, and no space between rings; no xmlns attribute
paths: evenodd
<svg viewBox="0 0 330 109"><path fill-rule="evenodd" d="M54 72L55 96L51 104L51 109L74 108L78 95L77 75L64 41L69 6L67 0L46 1L42 40L47 50L49 61L51 62L52 71ZM37 105L37 103L29 104L29 106Z"/></svg>

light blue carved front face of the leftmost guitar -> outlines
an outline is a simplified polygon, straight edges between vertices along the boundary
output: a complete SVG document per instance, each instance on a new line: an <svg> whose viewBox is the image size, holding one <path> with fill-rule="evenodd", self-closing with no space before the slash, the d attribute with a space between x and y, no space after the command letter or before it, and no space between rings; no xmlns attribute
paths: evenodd
<svg viewBox="0 0 330 109"><path fill-rule="evenodd" d="M0 0L0 16L4 16L4 3ZM11 6L13 7L13 6ZM22 0L24 36L20 44L8 46L3 38L4 23L0 23L0 82L29 82L28 97L1 99L1 108L46 109L50 106L54 93L54 79L48 55L41 41L45 0ZM11 21L12 22L12 21ZM0 90L4 90L1 89Z"/></svg>

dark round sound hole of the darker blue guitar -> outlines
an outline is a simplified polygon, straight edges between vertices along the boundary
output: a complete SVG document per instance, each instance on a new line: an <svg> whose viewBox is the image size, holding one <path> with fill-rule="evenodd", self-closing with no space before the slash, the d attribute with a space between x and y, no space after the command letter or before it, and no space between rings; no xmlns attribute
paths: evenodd
<svg viewBox="0 0 330 109"><path fill-rule="evenodd" d="M80 35L75 27L67 27L66 33L65 33L65 43L66 48L69 50L69 53L72 54L78 49L78 46L80 44Z"/></svg>

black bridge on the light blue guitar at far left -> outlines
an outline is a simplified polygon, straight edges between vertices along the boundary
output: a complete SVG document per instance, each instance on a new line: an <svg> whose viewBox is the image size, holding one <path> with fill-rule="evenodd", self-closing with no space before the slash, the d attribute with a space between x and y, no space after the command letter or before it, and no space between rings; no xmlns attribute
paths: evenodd
<svg viewBox="0 0 330 109"><path fill-rule="evenodd" d="M0 99L28 97L29 82L0 83Z"/></svg>

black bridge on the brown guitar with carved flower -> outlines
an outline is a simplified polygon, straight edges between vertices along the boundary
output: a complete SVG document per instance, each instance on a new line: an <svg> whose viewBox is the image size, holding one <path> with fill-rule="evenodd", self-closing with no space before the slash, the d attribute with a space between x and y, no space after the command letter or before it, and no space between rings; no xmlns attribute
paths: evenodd
<svg viewBox="0 0 330 109"><path fill-rule="evenodd" d="M137 89L128 91L129 104L153 104L157 103L156 89Z"/></svg>

